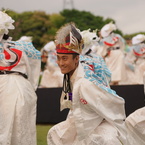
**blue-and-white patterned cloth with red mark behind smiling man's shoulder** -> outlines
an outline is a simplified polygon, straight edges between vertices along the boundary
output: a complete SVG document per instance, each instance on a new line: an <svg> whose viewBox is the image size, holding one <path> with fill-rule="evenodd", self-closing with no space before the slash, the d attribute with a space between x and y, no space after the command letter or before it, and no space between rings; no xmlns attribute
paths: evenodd
<svg viewBox="0 0 145 145"><path fill-rule="evenodd" d="M80 55L80 62L83 62L81 64L84 68L86 79L93 82L99 88L115 96L117 95L114 90L110 89L109 81L111 79L111 72L107 68L106 63L101 56L93 54L89 54L89 56Z"/></svg>

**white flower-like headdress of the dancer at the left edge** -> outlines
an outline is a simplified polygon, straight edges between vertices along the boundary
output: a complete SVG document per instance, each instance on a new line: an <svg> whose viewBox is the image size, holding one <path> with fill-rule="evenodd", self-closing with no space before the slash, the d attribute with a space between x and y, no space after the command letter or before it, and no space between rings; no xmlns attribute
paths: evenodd
<svg viewBox="0 0 145 145"><path fill-rule="evenodd" d="M2 38L4 34L8 34L9 29L14 29L14 20L8 16L5 12L0 11L0 37ZM0 39L1 40L1 39Z"/></svg>

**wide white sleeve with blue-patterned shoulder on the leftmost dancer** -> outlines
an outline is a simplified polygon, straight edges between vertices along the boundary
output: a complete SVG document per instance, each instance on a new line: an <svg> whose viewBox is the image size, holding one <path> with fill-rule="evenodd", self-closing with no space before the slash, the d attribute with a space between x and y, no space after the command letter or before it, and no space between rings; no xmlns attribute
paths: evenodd
<svg viewBox="0 0 145 145"><path fill-rule="evenodd" d="M15 43L17 49L21 49L25 53L24 57L28 80L36 90L38 87L41 70L41 53L34 47L31 42L17 41Z"/></svg>

